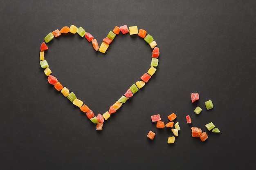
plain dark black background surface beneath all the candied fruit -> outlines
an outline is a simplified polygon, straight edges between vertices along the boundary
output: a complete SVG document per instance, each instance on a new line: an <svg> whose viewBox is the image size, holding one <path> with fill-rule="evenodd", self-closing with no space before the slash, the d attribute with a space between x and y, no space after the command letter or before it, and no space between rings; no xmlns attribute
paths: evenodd
<svg viewBox="0 0 256 170"><path fill-rule="evenodd" d="M160 49L155 75L100 132L40 68L45 35L72 24L99 44L116 25L137 25ZM0 29L1 170L256 166L254 0L2 0ZM150 67L152 49L137 35L119 34L106 54L72 33L47 45L52 75L95 114L105 113ZM191 103L191 93L200 99ZM209 99L211 110L204 106ZM167 144L171 129L157 129L150 116L167 123L171 113L181 130ZM211 121L219 134L205 128ZM191 137L191 126L206 131L207 141ZM152 141L149 130L156 132Z"/></svg>

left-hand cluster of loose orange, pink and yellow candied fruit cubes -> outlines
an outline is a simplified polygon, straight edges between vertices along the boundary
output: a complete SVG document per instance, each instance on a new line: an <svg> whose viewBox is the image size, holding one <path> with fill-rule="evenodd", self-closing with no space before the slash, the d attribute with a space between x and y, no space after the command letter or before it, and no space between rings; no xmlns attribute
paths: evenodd
<svg viewBox="0 0 256 170"><path fill-rule="evenodd" d="M168 115L167 118L168 118L168 120L169 120L167 124L164 124L164 121L162 121L162 119L161 119L161 117L160 117L160 114L152 115L152 116L151 116L151 121L152 121L152 122L157 122L157 124L156 124L156 127L157 127L157 128L164 128L164 127L171 128L171 131L173 132L173 135L174 135L174 136L169 136L168 139L167 139L167 143L168 143L168 144L173 144L173 143L175 142L175 137L177 137L178 134L179 134L180 125L179 125L179 122L176 122L176 123L174 124L174 121L173 121L173 120L177 118L177 116L176 116L175 113L172 113L171 115ZM173 128L173 125L174 125L174 128ZM155 132L153 132L153 131L150 130L150 131L148 132L147 137L148 137L149 139L153 140L154 137L155 137Z"/></svg>

